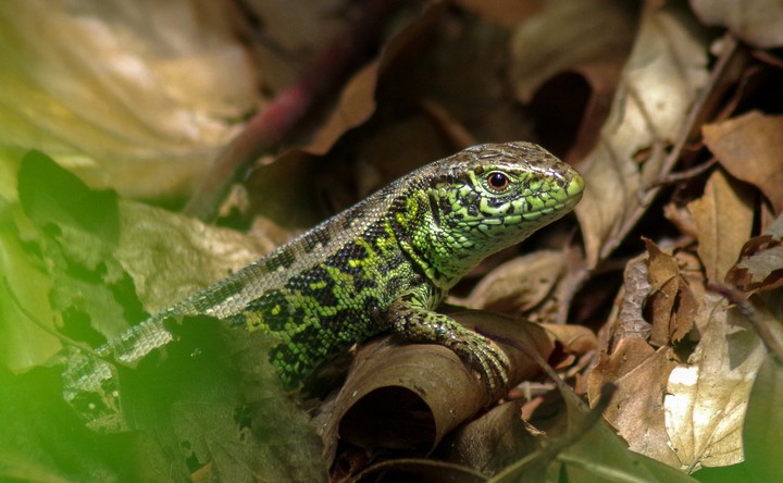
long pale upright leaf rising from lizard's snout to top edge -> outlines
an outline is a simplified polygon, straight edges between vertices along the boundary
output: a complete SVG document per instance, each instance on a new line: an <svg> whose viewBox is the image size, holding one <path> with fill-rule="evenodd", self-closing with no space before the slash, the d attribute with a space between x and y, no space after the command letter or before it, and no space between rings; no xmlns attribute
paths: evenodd
<svg viewBox="0 0 783 483"><path fill-rule="evenodd" d="M682 135L707 81L703 28L682 4L647 5L609 120L584 161L588 188L575 211L588 267L608 257L645 212L657 191L648 187L673 164L666 149Z"/></svg>

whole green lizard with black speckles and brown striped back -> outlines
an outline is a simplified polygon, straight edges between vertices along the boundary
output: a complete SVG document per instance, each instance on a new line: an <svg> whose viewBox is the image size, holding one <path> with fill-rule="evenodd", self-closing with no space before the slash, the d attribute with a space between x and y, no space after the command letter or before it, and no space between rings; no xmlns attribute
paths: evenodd
<svg viewBox="0 0 783 483"><path fill-rule="evenodd" d="M527 143L482 145L425 165L227 278L73 355L65 399L95 428L119 424L115 363L173 340L164 322L210 315L279 340L270 361L296 386L355 343L393 332L440 344L495 392L507 359L485 337L433 310L487 256L568 213L584 182Z"/></svg>

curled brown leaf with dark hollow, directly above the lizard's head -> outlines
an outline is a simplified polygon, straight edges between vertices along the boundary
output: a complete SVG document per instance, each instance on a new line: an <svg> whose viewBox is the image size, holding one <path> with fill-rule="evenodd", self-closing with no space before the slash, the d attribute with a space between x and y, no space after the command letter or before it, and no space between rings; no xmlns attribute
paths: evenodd
<svg viewBox="0 0 783 483"><path fill-rule="evenodd" d="M510 81L520 101L535 100L535 107L540 100L539 124L554 126L551 136L546 126L539 127L543 141L557 151L558 143L570 143L564 134L571 128L563 124L582 117L575 141L563 147L569 149L569 159L581 159L594 148L635 27L636 11L629 4L564 1L547 2L542 12L514 29ZM584 97L583 86L589 90Z"/></svg>

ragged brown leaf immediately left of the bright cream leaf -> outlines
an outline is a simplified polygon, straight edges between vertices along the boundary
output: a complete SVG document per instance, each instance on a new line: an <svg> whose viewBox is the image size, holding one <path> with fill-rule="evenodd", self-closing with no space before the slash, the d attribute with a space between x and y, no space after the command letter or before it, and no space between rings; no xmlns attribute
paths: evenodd
<svg viewBox="0 0 783 483"><path fill-rule="evenodd" d="M631 449L670 466L679 461L668 445L663 394L675 366L670 348L655 350L644 339L630 337L620 340L611 355L601 355L587 381L591 405L597 403L604 384L618 386L604 417Z"/></svg>

